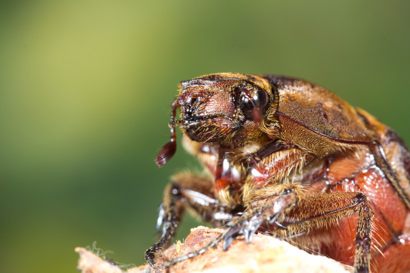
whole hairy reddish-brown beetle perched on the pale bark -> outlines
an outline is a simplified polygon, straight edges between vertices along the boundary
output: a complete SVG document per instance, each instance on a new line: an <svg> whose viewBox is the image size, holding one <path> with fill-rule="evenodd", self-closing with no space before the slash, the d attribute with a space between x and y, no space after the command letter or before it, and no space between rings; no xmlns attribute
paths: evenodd
<svg viewBox="0 0 410 273"><path fill-rule="evenodd" d="M162 266L269 230L298 234L294 242L354 272L410 271L410 156L394 131L367 112L305 80L217 73L180 83L159 166L176 150L175 125L210 177L171 178L157 222L161 236L145 252L152 266L190 207L227 228Z"/></svg>

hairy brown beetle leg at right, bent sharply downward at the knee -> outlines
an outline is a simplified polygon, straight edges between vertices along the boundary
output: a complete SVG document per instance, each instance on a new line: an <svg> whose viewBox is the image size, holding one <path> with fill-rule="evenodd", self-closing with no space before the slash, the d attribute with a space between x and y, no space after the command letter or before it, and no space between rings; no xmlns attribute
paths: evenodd
<svg viewBox="0 0 410 273"><path fill-rule="evenodd" d="M373 211L366 195L361 192L329 192L302 198L285 213L282 225L293 233L322 227L326 221L334 222L358 214L355 237L354 272L368 272L370 266L371 222Z"/></svg>

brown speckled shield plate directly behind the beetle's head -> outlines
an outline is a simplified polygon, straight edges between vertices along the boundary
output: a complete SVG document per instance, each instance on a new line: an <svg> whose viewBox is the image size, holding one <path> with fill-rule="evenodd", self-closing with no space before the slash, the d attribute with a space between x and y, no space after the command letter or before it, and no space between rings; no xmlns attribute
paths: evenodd
<svg viewBox="0 0 410 273"><path fill-rule="evenodd" d="M368 143L370 133L356 110L326 88L283 76L262 75L276 88L276 113L341 142Z"/></svg>

